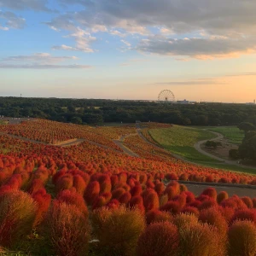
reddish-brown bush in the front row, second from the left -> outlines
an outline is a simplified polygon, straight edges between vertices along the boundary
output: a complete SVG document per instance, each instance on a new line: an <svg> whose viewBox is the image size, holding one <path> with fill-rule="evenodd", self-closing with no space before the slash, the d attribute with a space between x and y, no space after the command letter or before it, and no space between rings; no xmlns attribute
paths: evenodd
<svg viewBox="0 0 256 256"><path fill-rule="evenodd" d="M46 217L44 232L57 255L87 255L90 226L78 207L53 201Z"/></svg>

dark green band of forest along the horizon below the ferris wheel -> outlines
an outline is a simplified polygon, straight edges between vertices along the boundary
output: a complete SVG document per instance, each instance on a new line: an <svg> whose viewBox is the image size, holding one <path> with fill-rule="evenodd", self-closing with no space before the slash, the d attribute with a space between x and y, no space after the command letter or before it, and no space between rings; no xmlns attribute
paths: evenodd
<svg viewBox="0 0 256 256"><path fill-rule="evenodd" d="M189 105L159 102L0 97L0 115L75 124L160 122L175 125L256 125L256 106L227 103Z"/></svg>

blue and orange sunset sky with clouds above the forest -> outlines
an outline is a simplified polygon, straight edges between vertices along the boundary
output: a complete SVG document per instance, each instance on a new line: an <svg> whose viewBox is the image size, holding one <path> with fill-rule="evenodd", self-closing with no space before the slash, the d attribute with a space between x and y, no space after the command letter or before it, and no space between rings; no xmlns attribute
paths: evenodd
<svg viewBox="0 0 256 256"><path fill-rule="evenodd" d="M0 0L0 96L253 102L255 0Z"/></svg>

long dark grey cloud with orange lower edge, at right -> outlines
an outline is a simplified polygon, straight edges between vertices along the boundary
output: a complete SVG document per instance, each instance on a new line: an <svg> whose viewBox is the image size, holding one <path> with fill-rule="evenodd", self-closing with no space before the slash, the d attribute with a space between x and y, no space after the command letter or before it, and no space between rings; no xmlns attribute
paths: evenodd
<svg viewBox="0 0 256 256"><path fill-rule="evenodd" d="M206 60L239 56L256 51L255 38L166 38L154 36L137 45L141 52L158 55L179 55Z"/></svg>

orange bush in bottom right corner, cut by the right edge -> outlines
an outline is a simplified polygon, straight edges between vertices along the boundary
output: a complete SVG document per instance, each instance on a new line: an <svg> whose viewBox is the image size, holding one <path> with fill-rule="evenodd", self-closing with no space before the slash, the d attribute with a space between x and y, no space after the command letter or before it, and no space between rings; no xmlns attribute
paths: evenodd
<svg viewBox="0 0 256 256"><path fill-rule="evenodd" d="M232 256L256 254L256 227L247 220L236 221L228 232L229 254Z"/></svg>

